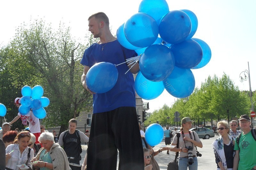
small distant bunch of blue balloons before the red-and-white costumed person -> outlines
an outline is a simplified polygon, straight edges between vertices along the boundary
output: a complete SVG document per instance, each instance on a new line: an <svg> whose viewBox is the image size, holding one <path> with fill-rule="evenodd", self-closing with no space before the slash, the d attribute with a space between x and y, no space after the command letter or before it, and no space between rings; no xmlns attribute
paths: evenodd
<svg viewBox="0 0 256 170"><path fill-rule="evenodd" d="M38 119L45 118L46 111L44 107L50 104L50 100L47 97L43 97L43 87L36 85L31 88L28 85L25 85L21 89L21 94L19 113L21 115L27 115L30 109L32 109L35 117Z"/></svg>

